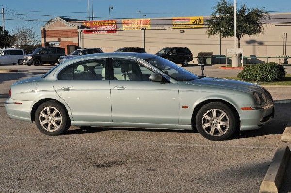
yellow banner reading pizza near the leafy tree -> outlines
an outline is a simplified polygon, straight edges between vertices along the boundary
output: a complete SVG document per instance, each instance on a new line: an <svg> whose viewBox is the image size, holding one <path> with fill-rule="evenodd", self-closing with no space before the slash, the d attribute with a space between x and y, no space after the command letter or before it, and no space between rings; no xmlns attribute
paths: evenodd
<svg viewBox="0 0 291 193"><path fill-rule="evenodd" d="M173 17L173 28L202 28L203 17Z"/></svg>

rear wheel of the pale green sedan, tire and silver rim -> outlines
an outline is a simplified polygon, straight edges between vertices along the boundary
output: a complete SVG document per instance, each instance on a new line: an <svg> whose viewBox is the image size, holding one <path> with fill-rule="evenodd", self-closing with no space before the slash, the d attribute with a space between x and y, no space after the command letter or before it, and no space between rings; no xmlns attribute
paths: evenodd
<svg viewBox="0 0 291 193"><path fill-rule="evenodd" d="M38 130L46 135L63 134L71 126L71 120L64 107L55 101L39 105L35 112L35 123Z"/></svg>

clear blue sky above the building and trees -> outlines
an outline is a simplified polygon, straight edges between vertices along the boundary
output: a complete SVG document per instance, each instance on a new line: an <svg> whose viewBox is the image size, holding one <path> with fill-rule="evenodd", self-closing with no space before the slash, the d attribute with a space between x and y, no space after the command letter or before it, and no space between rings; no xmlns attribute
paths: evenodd
<svg viewBox="0 0 291 193"><path fill-rule="evenodd" d="M126 18L163 18L184 16L209 16L219 0L89 0L94 20ZM234 0L229 0L234 3ZM264 8L272 13L291 12L291 0L236 0L250 8ZM10 34L16 27L33 28L39 39L41 27L50 19L66 17L88 20L88 0L0 0L0 25ZM90 13L91 15L91 13ZM144 16L146 15L146 16Z"/></svg>

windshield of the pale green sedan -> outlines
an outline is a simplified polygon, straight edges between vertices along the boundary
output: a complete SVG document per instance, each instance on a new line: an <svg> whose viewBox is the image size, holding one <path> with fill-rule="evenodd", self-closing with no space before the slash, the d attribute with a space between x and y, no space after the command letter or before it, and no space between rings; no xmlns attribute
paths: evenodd
<svg viewBox="0 0 291 193"><path fill-rule="evenodd" d="M199 76L197 76L196 74L193 74L186 69L178 66L177 64L162 57L156 56L145 60L177 81L189 81L199 78Z"/></svg>

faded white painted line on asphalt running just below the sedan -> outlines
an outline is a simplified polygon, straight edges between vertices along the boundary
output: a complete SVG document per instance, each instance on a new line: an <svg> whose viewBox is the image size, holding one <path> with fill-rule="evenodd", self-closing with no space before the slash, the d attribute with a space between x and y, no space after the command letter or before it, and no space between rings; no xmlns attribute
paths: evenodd
<svg viewBox="0 0 291 193"><path fill-rule="evenodd" d="M39 138L39 137L25 137L25 136L15 136L15 135L0 135L0 137L13 137L13 138L26 138L26 139L47 139L47 140L63 140L62 138ZM68 141L80 141L77 139L66 139ZM102 143L99 139L97 140L86 140L86 142L98 142ZM105 141L104 141L105 142ZM113 142L120 144L140 144L140 145L159 145L159 146L185 146L185 147L215 147L215 148L257 148L257 149L276 149L277 147L264 147L264 146L234 146L234 145L211 145L211 144L178 144L178 143L150 143L150 142L138 142L138 141L128 141L128 142Z"/></svg>

